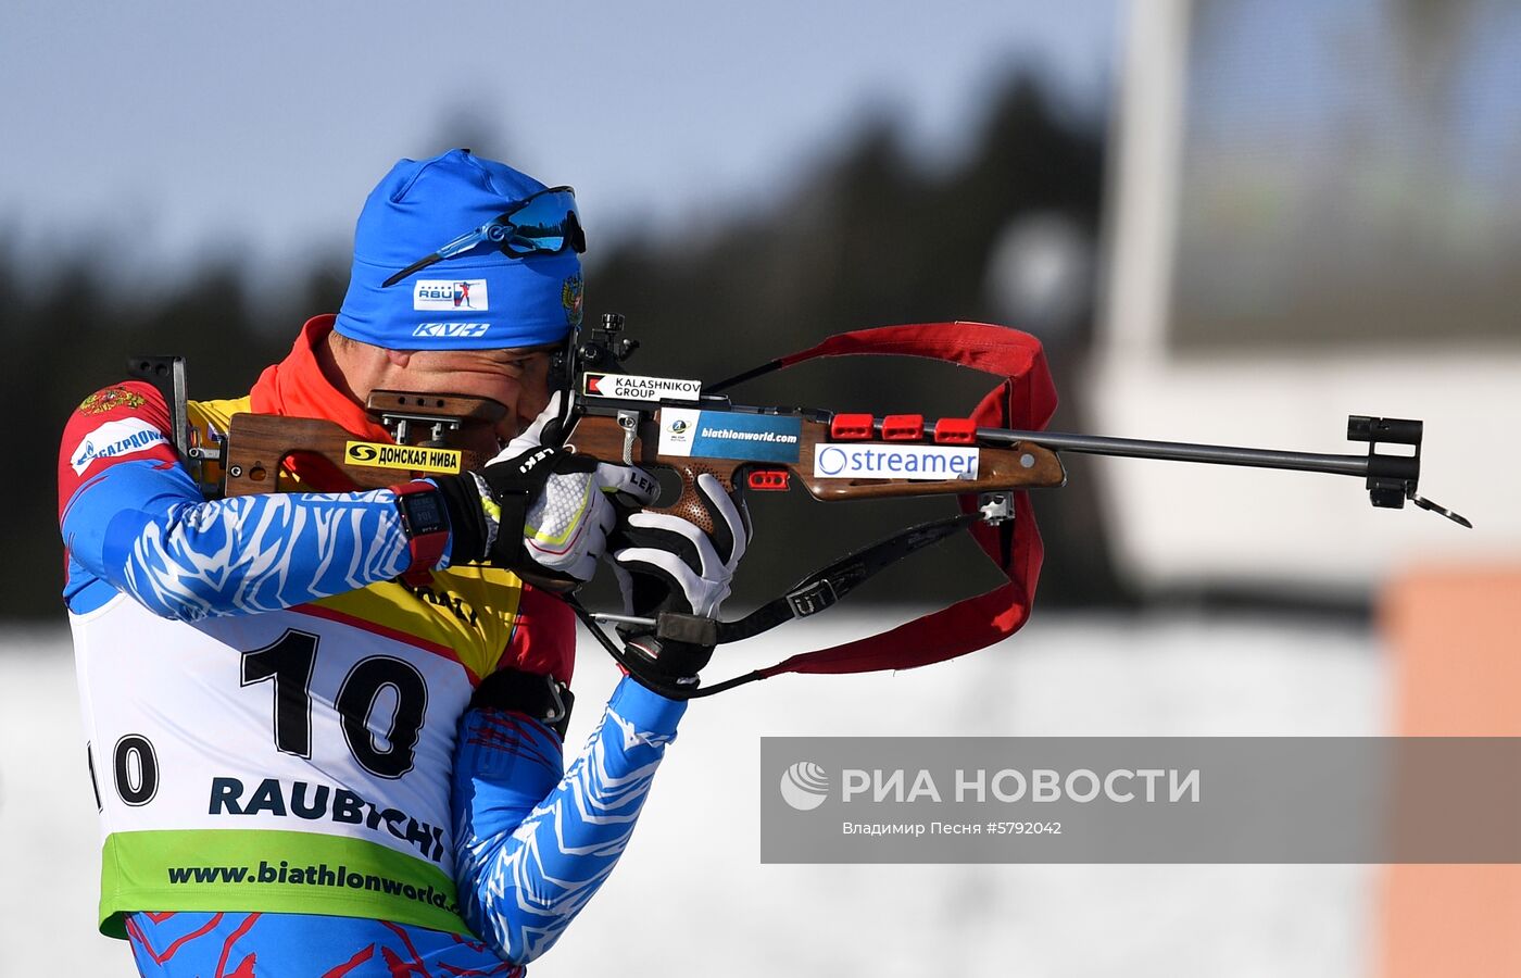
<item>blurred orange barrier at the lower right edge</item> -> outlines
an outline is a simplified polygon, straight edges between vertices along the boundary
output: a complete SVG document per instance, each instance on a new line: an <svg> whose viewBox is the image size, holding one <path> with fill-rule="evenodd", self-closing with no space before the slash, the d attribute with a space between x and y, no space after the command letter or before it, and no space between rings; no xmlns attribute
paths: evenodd
<svg viewBox="0 0 1521 978"><path fill-rule="evenodd" d="M1407 575L1380 618L1395 733L1521 736L1521 567ZM1384 978L1521 975L1521 865L1390 865L1383 897Z"/></svg>

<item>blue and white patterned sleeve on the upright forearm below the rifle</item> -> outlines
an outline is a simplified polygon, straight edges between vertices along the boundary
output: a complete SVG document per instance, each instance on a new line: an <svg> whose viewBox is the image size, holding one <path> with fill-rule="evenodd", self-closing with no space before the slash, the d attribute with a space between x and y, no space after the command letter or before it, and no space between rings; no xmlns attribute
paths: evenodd
<svg viewBox="0 0 1521 978"><path fill-rule="evenodd" d="M522 713L470 710L455 753L455 876L465 923L528 964L624 853L686 703L631 678L561 776L560 739Z"/></svg>

